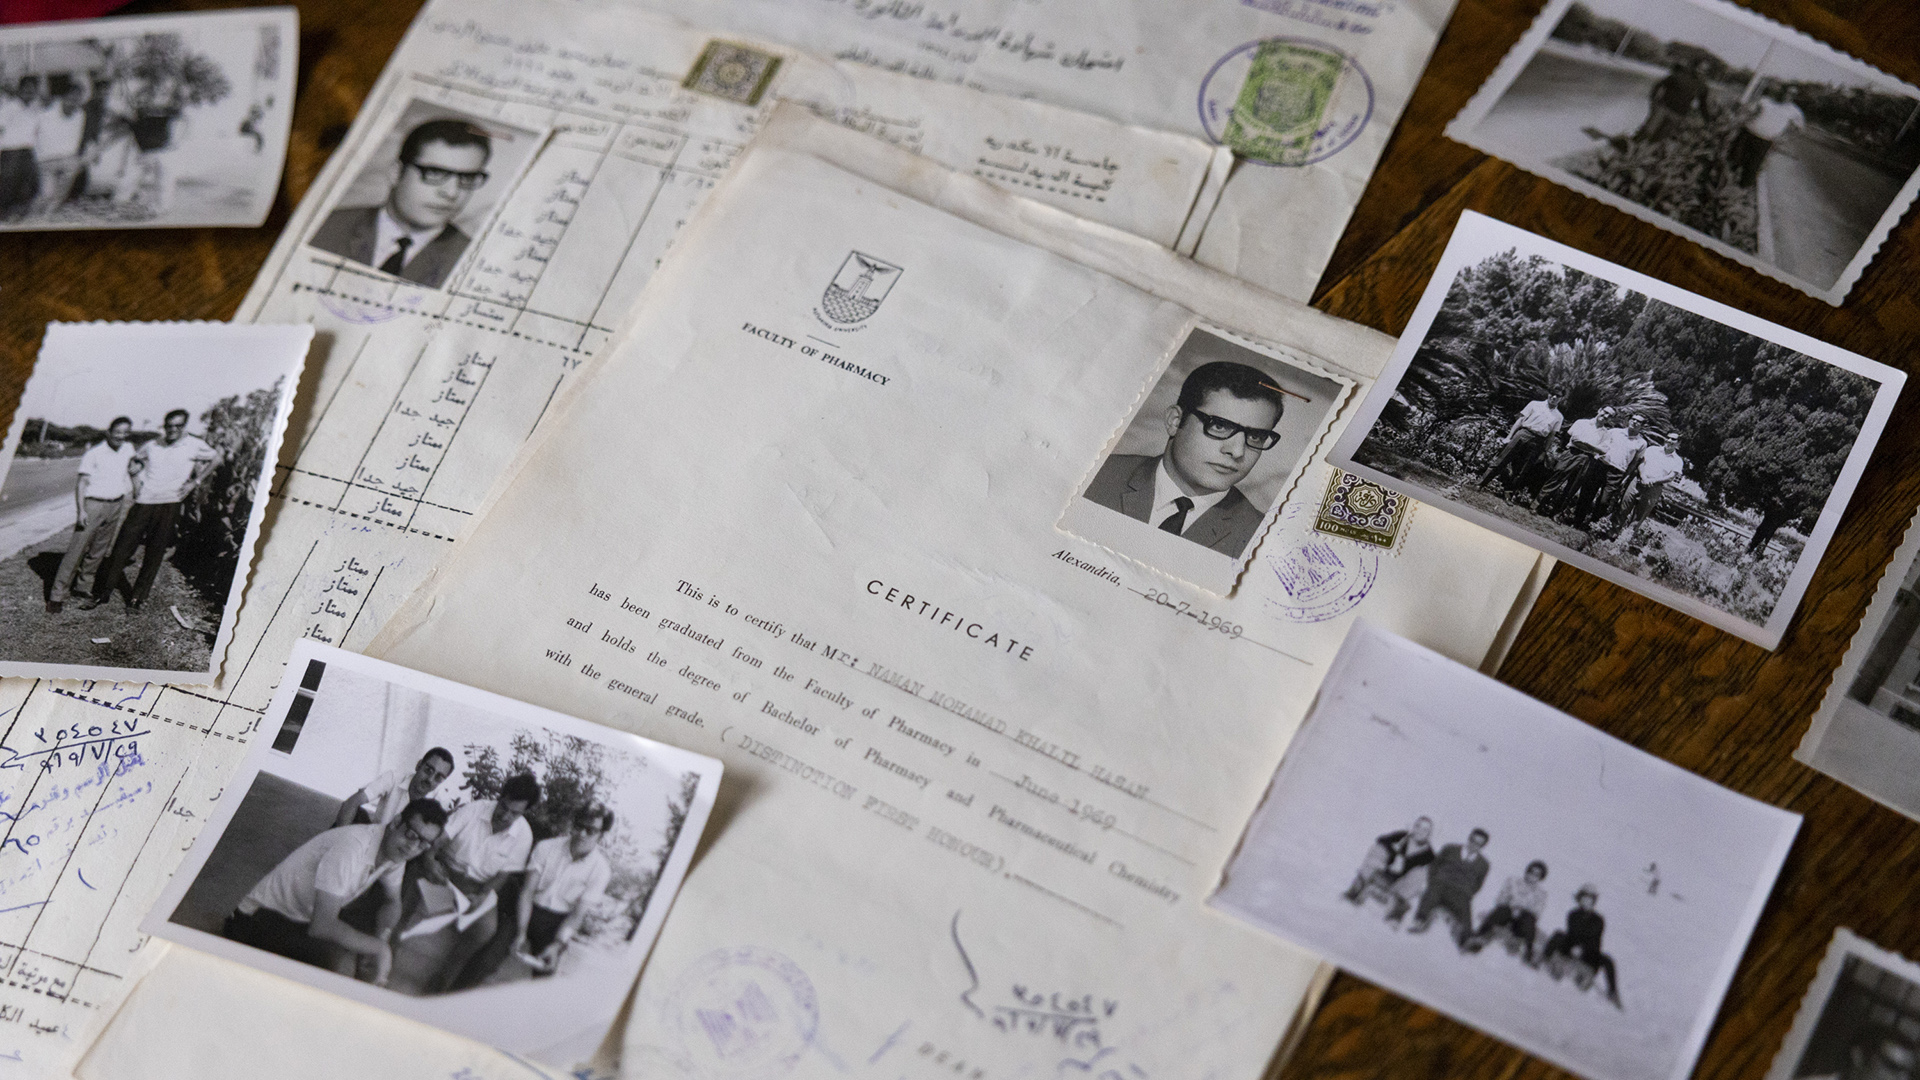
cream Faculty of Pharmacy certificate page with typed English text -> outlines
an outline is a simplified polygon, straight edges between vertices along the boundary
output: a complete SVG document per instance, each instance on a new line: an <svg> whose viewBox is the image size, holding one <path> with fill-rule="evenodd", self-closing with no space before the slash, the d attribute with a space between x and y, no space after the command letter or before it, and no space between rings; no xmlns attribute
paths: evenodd
<svg viewBox="0 0 1920 1080"><path fill-rule="evenodd" d="M897 277L829 336L849 252ZM1265 311L1288 352L1308 317ZM1054 530L1210 313L803 152L737 165L372 646L728 763L624 1072L1263 1070L1317 961L1200 905L1263 773L1356 617L1478 661L1534 555L1313 532L1323 465L1227 601ZM1317 359L1363 382L1361 340Z"/></svg>

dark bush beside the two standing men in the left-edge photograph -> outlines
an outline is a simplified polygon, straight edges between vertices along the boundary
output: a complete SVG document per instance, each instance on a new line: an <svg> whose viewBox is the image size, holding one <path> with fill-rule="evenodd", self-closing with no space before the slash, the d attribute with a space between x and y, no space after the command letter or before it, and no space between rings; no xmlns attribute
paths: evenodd
<svg viewBox="0 0 1920 1080"><path fill-rule="evenodd" d="M267 467L267 434L282 382L275 380L246 398L221 398L200 413L202 438L221 454L221 463L180 507L173 565L215 609L225 605L240 569L246 525L253 515L253 484Z"/></svg>

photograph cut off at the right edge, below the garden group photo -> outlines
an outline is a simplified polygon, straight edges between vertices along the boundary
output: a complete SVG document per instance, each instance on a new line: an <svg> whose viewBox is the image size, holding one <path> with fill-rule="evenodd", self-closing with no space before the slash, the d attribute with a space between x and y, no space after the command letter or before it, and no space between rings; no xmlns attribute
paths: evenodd
<svg viewBox="0 0 1920 1080"><path fill-rule="evenodd" d="M1793 757L1920 821L1920 515Z"/></svg>

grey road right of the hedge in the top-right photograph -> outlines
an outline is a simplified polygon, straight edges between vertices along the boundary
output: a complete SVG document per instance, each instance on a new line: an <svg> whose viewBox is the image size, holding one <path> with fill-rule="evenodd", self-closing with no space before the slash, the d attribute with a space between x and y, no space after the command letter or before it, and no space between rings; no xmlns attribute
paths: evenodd
<svg viewBox="0 0 1920 1080"><path fill-rule="evenodd" d="M1789 131L1763 167L1774 265L1830 286L1901 190L1901 179Z"/></svg>

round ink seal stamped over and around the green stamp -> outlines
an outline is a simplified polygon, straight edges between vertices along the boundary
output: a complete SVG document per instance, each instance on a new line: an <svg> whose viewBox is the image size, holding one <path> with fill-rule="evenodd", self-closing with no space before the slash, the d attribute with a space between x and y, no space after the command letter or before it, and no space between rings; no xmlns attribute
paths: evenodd
<svg viewBox="0 0 1920 1080"><path fill-rule="evenodd" d="M1261 165L1311 165L1346 150L1373 119L1373 79L1346 52L1311 38L1263 38L1200 81L1208 138Z"/></svg>

